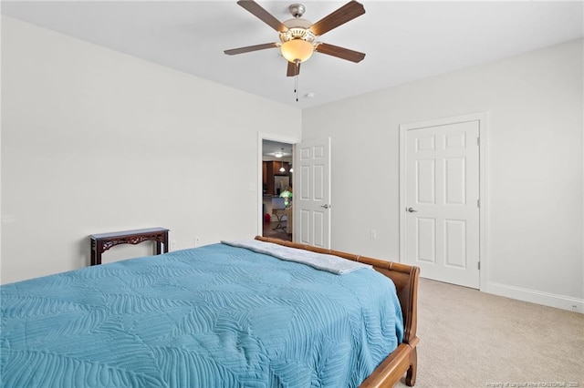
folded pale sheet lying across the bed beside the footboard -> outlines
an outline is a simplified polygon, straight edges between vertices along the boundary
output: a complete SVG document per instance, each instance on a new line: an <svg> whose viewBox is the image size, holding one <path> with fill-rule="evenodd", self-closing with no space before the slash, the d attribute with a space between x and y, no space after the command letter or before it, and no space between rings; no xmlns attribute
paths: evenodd
<svg viewBox="0 0 584 388"><path fill-rule="evenodd" d="M337 275L342 275L360 269L372 269L369 264L358 261L343 259L339 256L323 253L311 252L309 250L299 250L297 248L285 247L283 245L260 240L222 240L224 244L233 247L253 250L257 253L274 256L280 260L295 261L309 265L321 271L328 271Z"/></svg>

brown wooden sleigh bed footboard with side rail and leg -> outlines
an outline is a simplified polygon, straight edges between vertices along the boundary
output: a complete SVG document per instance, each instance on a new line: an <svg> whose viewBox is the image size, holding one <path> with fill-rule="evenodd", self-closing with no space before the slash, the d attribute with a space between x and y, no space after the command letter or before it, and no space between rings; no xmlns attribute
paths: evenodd
<svg viewBox="0 0 584 388"><path fill-rule="evenodd" d="M395 284L395 288L398 292L398 299L401 304L404 329L403 341L398 345L398 348L391 352L391 354L381 362L377 369L375 369L373 373L371 373L370 376L360 384L360 388L392 387L395 383L401 380L404 373L406 373L406 385L413 386L413 384L416 383L416 371L418 366L416 345L420 342L420 339L416 337L418 278L420 275L420 269L418 267L261 236L256 236L255 240L272 242L291 248L311 250L318 253L340 256L349 260L360 261L372 265L376 271L381 272L383 275L390 278Z"/></svg>

